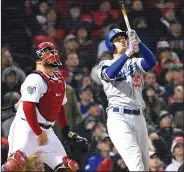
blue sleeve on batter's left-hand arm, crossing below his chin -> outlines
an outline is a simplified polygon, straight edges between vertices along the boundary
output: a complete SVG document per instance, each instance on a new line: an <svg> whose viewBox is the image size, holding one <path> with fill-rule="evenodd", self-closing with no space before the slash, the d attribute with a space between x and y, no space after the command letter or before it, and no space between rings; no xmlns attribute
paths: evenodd
<svg viewBox="0 0 184 172"><path fill-rule="evenodd" d="M121 71L123 65L127 61L128 56L123 54L118 60L116 60L111 66L107 67L106 75L109 79L115 79L117 74Z"/></svg>

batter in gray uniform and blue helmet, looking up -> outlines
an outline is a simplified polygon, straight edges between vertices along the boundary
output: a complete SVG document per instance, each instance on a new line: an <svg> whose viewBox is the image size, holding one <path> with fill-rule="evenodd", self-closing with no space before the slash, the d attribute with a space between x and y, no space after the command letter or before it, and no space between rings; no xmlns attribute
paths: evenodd
<svg viewBox="0 0 184 172"><path fill-rule="evenodd" d="M99 64L98 74L108 99L109 136L130 171L149 171L149 148L143 116L143 75L156 60L134 30L112 29L105 39L113 60ZM134 57L140 51L142 58Z"/></svg>

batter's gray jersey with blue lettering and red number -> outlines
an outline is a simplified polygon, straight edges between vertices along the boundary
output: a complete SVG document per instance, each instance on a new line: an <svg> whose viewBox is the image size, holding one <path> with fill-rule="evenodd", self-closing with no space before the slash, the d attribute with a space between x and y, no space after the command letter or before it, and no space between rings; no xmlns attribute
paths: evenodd
<svg viewBox="0 0 184 172"><path fill-rule="evenodd" d="M115 62L115 59L100 62L98 75L109 102L108 109L118 106L145 108L142 98L145 71L141 66L141 60L142 58L128 59L115 79L110 79L105 74L106 68Z"/></svg>

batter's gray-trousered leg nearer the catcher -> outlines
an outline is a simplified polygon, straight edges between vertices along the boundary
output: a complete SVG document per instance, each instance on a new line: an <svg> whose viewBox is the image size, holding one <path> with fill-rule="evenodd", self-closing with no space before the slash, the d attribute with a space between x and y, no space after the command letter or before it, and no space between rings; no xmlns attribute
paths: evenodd
<svg viewBox="0 0 184 172"><path fill-rule="evenodd" d="M139 148L131 116L108 115L107 128L109 136L125 161L129 171L145 171L142 153Z"/></svg>

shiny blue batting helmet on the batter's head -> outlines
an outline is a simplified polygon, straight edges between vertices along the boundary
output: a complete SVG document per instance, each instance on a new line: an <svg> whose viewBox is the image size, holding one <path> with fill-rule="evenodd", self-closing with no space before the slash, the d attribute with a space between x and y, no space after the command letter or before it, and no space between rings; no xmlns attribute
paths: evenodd
<svg viewBox="0 0 184 172"><path fill-rule="evenodd" d="M112 40L118 35L122 35L125 38L127 38L126 32L122 31L121 29L117 29L117 28L109 31L105 37L105 44L106 44L106 47L110 53L113 53L115 50L115 47L114 47L114 44L112 43Z"/></svg>

